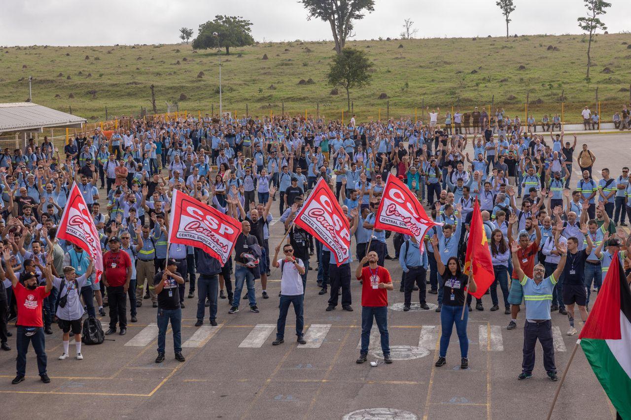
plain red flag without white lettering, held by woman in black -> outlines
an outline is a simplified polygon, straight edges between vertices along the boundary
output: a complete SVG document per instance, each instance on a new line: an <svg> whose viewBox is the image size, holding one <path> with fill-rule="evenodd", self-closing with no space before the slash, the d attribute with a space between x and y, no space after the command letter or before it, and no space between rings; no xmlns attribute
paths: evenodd
<svg viewBox="0 0 631 420"><path fill-rule="evenodd" d="M471 228L469 228L469 240L467 241L467 253L464 257L464 273L471 274L478 289L469 294L480 299L495 281L491 250L488 248L487 233L482 223L480 203L476 200L471 214Z"/></svg>

